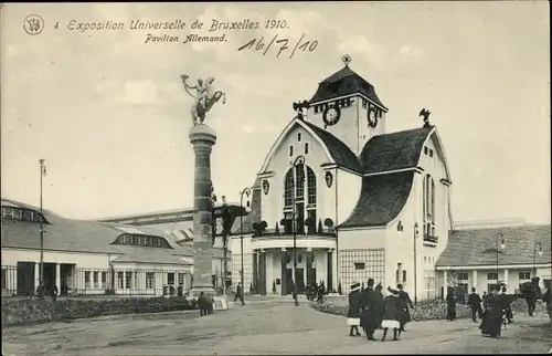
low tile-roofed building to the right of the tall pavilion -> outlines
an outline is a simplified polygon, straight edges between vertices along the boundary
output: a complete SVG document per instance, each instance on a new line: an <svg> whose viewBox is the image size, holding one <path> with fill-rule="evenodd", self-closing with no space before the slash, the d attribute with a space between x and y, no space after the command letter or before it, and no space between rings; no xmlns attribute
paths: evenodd
<svg viewBox="0 0 552 356"><path fill-rule="evenodd" d="M440 294L453 286L467 295L497 284L510 293L539 276L541 287L552 282L551 226L522 221L474 222L455 227L435 263Z"/></svg>

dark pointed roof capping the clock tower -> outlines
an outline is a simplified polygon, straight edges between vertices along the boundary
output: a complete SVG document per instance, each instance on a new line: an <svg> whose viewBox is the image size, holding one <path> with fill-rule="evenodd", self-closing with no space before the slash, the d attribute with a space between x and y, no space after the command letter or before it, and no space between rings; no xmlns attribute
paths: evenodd
<svg viewBox="0 0 552 356"><path fill-rule="evenodd" d="M320 82L320 84L318 84L317 92L310 100L310 103L317 103L354 93L361 93L386 109L385 105L383 105L375 94L373 85L368 83L359 74L354 73L348 65Z"/></svg>

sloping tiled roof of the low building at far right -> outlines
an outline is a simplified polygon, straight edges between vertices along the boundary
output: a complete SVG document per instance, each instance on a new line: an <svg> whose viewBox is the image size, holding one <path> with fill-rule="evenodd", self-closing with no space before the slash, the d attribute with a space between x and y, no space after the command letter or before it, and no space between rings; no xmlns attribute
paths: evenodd
<svg viewBox="0 0 552 356"><path fill-rule="evenodd" d="M497 263L497 234L505 240L506 249L499 253L499 264L532 264L537 241L542 244L542 256L537 253L537 263L550 263L551 226L527 224L510 228L456 230L448 234L445 251L435 266L495 265Z"/></svg>

